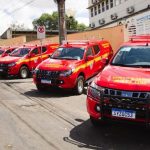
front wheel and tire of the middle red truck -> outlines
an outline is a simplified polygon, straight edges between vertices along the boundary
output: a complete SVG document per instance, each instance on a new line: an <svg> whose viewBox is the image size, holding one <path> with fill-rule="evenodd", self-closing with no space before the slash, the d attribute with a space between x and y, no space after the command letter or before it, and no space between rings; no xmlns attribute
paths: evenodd
<svg viewBox="0 0 150 150"><path fill-rule="evenodd" d="M84 77L79 76L76 81L75 93L81 95L84 90Z"/></svg>

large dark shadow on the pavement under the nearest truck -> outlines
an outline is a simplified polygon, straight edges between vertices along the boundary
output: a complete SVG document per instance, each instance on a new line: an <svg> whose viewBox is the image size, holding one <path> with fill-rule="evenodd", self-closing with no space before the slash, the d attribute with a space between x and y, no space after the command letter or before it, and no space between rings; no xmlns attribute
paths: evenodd
<svg viewBox="0 0 150 150"><path fill-rule="evenodd" d="M74 127L64 137L80 148L93 150L149 150L150 131L145 127L127 124L107 124L93 127L90 120Z"/></svg>

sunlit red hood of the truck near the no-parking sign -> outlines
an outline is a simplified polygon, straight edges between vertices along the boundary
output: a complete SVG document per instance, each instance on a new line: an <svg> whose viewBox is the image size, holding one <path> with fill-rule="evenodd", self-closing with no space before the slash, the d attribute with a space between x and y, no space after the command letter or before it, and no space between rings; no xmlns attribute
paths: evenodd
<svg viewBox="0 0 150 150"><path fill-rule="evenodd" d="M0 63L9 64L9 63L17 62L19 59L20 57L12 57L12 56L1 57Z"/></svg>

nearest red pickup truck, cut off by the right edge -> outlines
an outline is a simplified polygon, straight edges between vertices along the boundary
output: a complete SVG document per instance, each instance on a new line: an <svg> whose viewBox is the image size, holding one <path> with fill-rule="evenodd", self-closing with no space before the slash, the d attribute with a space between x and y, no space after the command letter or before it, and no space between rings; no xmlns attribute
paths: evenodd
<svg viewBox="0 0 150 150"><path fill-rule="evenodd" d="M150 124L150 36L134 36L89 85L93 125L122 121Z"/></svg>

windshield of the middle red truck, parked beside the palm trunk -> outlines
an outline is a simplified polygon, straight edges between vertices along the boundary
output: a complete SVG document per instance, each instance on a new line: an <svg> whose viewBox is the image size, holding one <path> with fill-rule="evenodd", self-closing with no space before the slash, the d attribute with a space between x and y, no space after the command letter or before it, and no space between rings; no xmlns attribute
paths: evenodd
<svg viewBox="0 0 150 150"><path fill-rule="evenodd" d="M60 47L51 56L53 59L83 59L84 49L75 47Z"/></svg>

